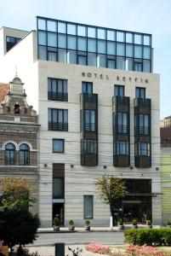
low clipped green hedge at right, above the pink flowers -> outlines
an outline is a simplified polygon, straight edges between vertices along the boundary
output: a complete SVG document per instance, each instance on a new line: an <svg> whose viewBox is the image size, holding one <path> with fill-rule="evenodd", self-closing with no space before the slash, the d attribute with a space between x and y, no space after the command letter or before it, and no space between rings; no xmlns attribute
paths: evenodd
<svg viewBox="0 0 171 256"><path fill-rule="evenodd" d="M125 241L134 245L170 246L171 229L124 230Z"/></svg>

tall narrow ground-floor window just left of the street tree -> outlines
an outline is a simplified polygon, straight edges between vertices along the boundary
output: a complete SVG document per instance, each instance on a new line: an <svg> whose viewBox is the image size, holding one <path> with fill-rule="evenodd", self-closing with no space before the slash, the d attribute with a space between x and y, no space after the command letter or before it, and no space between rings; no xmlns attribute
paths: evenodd
<svg viewBox="0 0 171 256"><path fill-rule="evenodd" d="M83 218L94 218L94 196L83 196Z"/></svg>

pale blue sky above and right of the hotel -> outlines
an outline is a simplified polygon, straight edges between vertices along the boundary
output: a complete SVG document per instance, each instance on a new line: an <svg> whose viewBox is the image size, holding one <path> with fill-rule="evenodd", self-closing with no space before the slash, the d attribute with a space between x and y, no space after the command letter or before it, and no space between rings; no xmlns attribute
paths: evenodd
<svg viewBox="0 0 171 256"><path fill-rule="evenodd" d="M0 0L0 27L30 31L37 15L151 33L153 72L161 75L161 119L171 115L170 0Z"/></svg>

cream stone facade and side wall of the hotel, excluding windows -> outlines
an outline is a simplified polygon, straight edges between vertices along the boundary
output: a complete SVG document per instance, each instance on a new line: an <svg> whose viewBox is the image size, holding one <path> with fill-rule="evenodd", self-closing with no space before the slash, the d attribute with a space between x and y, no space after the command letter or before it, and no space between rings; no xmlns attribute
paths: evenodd
<svg viewBox="0 0 171 256"><path fill-rule="evenodd" d="M92 225L109 225L109 207L95 194L95 179L108 173L123 178L151 179L153 224L161 224L159 75L102 67L37 60L37 32L29 33L0 58L0 80L8 82L15 67L25 82L28 103L39 114L39 214L42 226L52 224L53 163L65 164L65 224L73 219L83 225L83 195L94 195ZM83 75L84 73L84 75ZM48 100L48 78L67 79L68 102ZM80 93L82 82L92 82L98 94L98 166L80 164ZM125 86L130 97L130 167L113 166L112 96L114 84ZM151 99L151 168L134 166L134 98L135 87L144 87ZM48 131L48 108L68 109L68 131ZM65 153L53 153L53 138L65 139ZM71 166L73 165L73 166ZM104 168L106 166L106 169Z"/></svg>

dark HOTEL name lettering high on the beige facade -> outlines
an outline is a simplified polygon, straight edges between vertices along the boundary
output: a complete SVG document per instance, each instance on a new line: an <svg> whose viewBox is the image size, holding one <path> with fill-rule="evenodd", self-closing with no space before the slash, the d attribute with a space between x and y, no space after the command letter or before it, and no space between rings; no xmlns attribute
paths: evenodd
<svg viewBox="0 0 171 256"><path fill-rule="evenodd" d="M83 72L82 73L82 76L83 77L87 77L87 78L92 78L92 79L106 79L106 80L109 80L109 76L107 74L98 74L98 73L85 73ZM148 79L138 79L138 78L132 78L130 76L120 76L120 75L117 75L116 76L116 79L117 81L121 81L121 82L135 82L135 83L145 83L145 84L148 84Z"/></svg>

